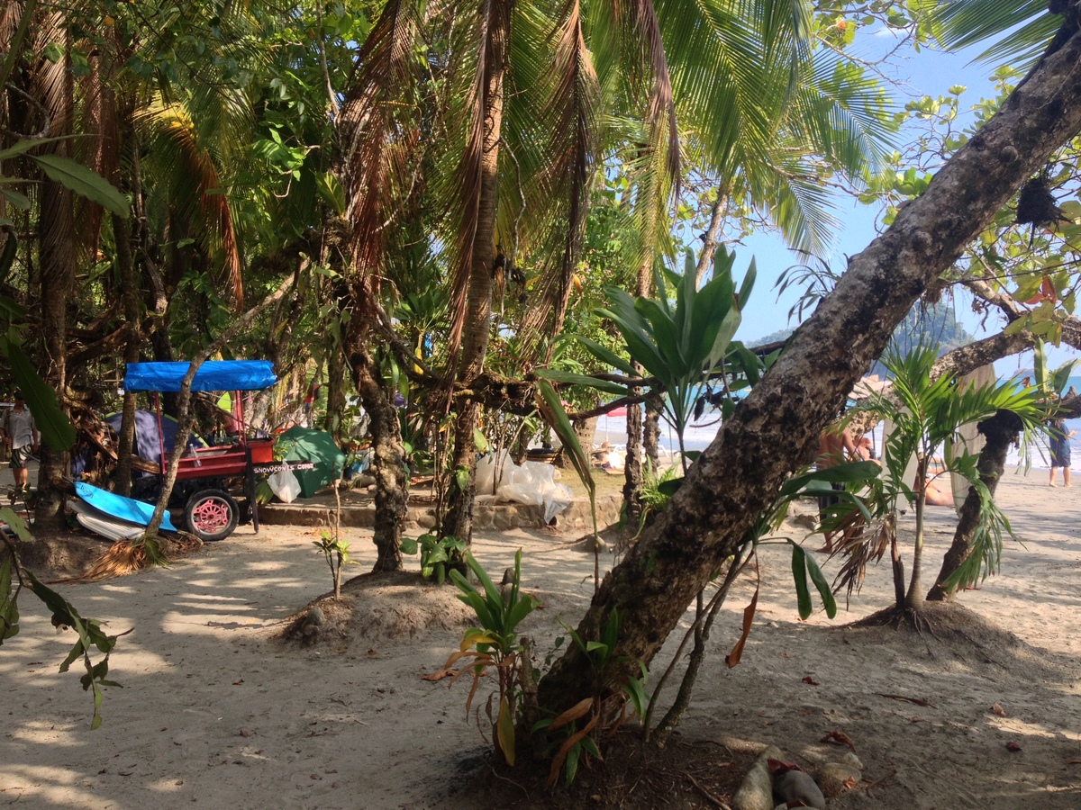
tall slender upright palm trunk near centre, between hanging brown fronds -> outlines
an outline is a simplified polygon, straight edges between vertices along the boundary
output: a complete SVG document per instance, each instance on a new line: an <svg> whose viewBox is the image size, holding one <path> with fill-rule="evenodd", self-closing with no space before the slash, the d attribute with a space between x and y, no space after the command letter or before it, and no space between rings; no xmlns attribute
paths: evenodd
<svg viewBox="0 0 1081 810"><path fill-rule="evenodd" d="M499 133L503 127L503 78L510 33L510 2L492 3L493 18L485 39L488 73L484 81L479 193L471 240L469 240L469 287L462 332L462 356L457 381L463 389L484 370L488 341L492 330L492 261L495 246L495 203L499 167ZM468 393L455 397L454 450L451 456L450 508L443 518L442 535L469 541L472 538L473 497L477 477L477 444L473 429L480 405ZM454 483L465 471L467 484Z"/></svg>

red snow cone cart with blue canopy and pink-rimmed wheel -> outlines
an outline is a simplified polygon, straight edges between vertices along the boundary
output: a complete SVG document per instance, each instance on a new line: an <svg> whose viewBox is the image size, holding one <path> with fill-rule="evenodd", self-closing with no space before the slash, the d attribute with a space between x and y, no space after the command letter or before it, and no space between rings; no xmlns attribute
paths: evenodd
<svg viewBox="0 0 1081 810"><path fill-rule="evenodd" d="M129 363L124 376L128 393L148 392L154 394L158 415L158 437L161 443L160 474L164 481L169 469L169 454L161 430L162 392L178 392L190 364L187 362ZM229 494L226 481L243 477L244 497L248 501L248 516L255 530L259 530L258 504L255 500L255 475L263 472L259 467L275 469L273 438L248 436L241 391L262 391L278 381L273 365L266 360L222 360L206 361L196 372L191 382L192 393L197 391L232 392L231 419L236 440L221 445L188 445L170 498L170 505L183 509L184 523L189 531L202 540L224 540L237 528L241 521L240 508ZM231 434L233 431L229 431ZM177 436L177 442L187 441ZM160 491L160 486L159 486ZM175 514L175 513L174 513Z"/></svg>

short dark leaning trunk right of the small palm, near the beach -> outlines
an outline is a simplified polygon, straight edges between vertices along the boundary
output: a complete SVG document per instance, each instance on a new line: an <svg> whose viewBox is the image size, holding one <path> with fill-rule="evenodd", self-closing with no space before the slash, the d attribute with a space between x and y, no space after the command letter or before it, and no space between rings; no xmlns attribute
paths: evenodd
<svg viewBox="0 0 1081 810"><path fill-rule="evenodd" d="M985 419L977 426L977 430L987 440L984 448L979 451L979 459L976 469L979 471L979 480L984 483L991 496L999 485L1002 472L1006 465L1006 454L1010 445L1017 441L1024 424L1016 414L1010 410L1000 410L989 419ZM980 523L980 500L973 487L969 487L969 496L961 504L961 513L958 516L957 531L953 535L953 542L943 557L943 567L938 571L935 584L927 592L929 602L950 602L957 595L957 585L946 586L946 581L952 577L957 570L972 554L972 541L976 536L976 528ZM960 583L964 584L964 583Z"/></svg>

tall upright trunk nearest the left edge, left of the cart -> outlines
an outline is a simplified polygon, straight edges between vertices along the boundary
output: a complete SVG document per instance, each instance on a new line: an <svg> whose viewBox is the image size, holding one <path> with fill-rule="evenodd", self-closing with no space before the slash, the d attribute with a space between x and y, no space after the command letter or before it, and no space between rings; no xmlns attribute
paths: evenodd
<svg viewBox="0 0 1081 810"><path fill-rule="evenodd" d="M64 58L45 63L35 81L35 94L50 118L49 134L70 135L75 117L75 89L71 77L70 35L62 14L49 14L42 21L38 53L46 45L63 48ZM43 149L70 157L71 141L59 140ZM52 179L41 181L41 215L38 221L41 265L41 355L38 366L45 382L56 392L59 407L67 411L67 306L75 287L75 207L71 191ZM42 528L61 529L64 524L63 482L70 474L67 450L41 445L38 468L38 503L35 523Z"/></svg>

